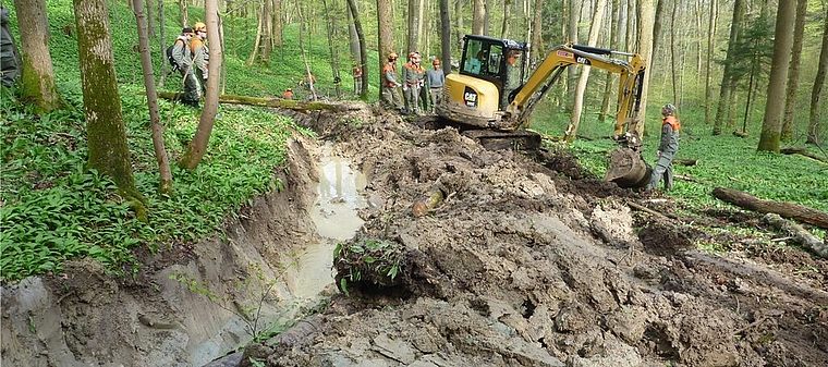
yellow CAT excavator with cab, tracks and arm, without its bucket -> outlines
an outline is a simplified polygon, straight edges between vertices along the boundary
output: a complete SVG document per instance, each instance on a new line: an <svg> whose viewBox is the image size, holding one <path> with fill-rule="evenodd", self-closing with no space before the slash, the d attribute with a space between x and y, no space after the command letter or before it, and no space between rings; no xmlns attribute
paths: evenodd
<svg viewBox="0 0 828 367"><path fill-rule="evenodd" d="M620 74L614 137L630 137L624 130L638 113L646 68L641 56L565 44L553 47L529 74L526 42L478 35L463 40L459 72L446 76L443 98L435 112L461 126L465 135L501 146L514 142L539 146L540 136L521 127L528 127L533 109L567 66L585 65ZM497 143L489 146L498 148Z"/></svg>

